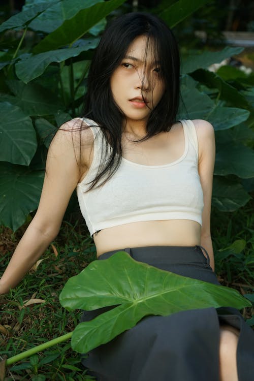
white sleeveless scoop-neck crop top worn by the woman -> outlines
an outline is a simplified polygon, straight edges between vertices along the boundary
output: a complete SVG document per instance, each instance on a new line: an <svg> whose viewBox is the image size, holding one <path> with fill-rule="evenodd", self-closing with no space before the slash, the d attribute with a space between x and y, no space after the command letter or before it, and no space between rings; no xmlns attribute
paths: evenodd
<svg viewBox="0 0 254 381"><path fill-rule="evenodd" d="M77 185L80 209L92 236L95 232L139 221L190 219L202 225L203 192L198 173L198 140L192 120L180 120L185 148L170 164L146 166L122 157L107 182L89 190L97 174L104 148L104 135L90 119L94 136L93 160L88 173Z"/></svg>

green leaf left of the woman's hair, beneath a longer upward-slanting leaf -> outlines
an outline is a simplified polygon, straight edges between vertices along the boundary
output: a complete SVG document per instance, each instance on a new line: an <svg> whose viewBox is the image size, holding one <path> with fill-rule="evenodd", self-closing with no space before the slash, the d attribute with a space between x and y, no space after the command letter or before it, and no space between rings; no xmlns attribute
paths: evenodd
<svg viewBox="0 0 254 381"><path fill-rule="evenodd" d="M94 38L87 39L81 46L76 48L51 50L49 52L26 57L26 59L16 63L16 74L19 79L28 83L43 74L51 62L62 62L70 57L76 57L81 52L96 48L98 41L98 39Z"/></svg>

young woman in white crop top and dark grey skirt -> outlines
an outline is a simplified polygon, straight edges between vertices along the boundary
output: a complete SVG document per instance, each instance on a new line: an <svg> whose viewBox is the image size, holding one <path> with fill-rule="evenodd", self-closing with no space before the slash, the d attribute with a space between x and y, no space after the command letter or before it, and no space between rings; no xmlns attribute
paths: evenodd
<svg viewBox="0 0 254 381"><path fill-rule="evenodd" d="M100 260L124 249L138 261L218 284L210 236L214 132L205 120L177 121L178 102L171 30L149 14L114 20L91 63L85 118L63 125L50 145L38 211L0 293L55 238L76 187ZM250 381L253 336L231 308L148 316L83 362L103 381Z"/></svg>

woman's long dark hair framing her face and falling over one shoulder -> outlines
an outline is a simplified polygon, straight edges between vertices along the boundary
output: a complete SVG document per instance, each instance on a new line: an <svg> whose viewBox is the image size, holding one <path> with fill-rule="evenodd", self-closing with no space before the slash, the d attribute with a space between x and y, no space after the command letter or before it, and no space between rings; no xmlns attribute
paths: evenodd
<svg viewBox="0 0 254 381"><path fill-rule="evenodd" d="M154 60L160 62L160 75L166 87L161 101L149 115L146 136L142 140L169 131L176 121L180 59L172 31L162 20L148 13L134 12L116 18L104 31L91 61L87 79L83 116L100 125L106 147L110 146L109 160L103 165L105 161L102 157L102 165L89 189L106 182L121 162L121 135L125 116L114 102L110 78L129 45L139 36L147 37L146 52L152 47Z"/></svg>

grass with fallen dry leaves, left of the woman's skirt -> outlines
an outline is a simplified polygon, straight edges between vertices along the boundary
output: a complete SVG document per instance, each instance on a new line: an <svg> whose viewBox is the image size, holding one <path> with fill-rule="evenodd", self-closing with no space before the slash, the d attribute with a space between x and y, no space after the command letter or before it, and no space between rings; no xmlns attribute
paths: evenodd
<svg viewBox="0 0 254 381"><path fill-rule="evenodd" d="M20 235L22 229L13 235L5 228L0 237L9 242L8 247L13 251ZM1 258L2 269L11 256L8 247L4 247L6 252ZM45 252L42 261L37 263L38 266L25 276L10 295L0 298L0 304L4 306L0 314L2 358L14 356L75 328L79 323L80 311L68 312L63 309L58 302L58 295L67 279L79 273L95 257L95 248L85 226L72 226L64 222L56 241ZM13 379L79 381L92 377L80 363L80 355L71 350L68 342L14 364L5 381Z"/></svg>

